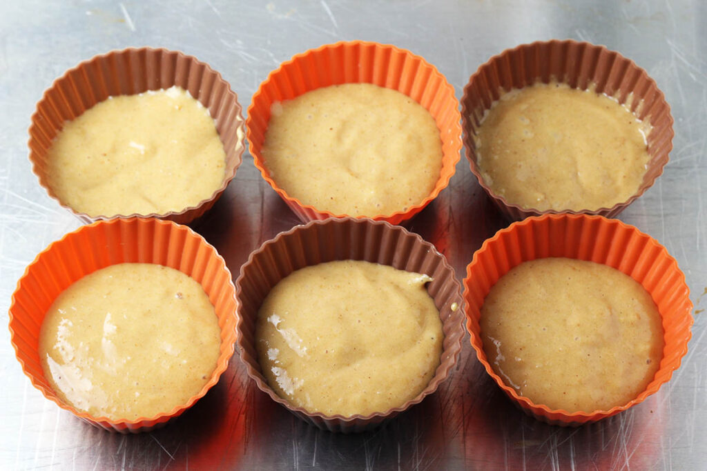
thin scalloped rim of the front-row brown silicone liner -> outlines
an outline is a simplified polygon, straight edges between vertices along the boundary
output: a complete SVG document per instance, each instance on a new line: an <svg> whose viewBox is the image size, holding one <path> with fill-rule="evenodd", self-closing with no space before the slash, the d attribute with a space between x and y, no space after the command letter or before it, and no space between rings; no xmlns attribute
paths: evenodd
<svg viewBox="0 0 707 471"><path fill-rule="evenodd" d="M356 422L371 422L371 421L374 421L374 422L372 422L373 424L378 424L378 423L382 422L382 420L395 417L395 415L397 415L399 412L403 412L404 410L409 409L413 405L421 403L422 400L424 398L426 398L428 395L432 395L433 393L436 393L439 386L442 383L444 383L445 381L447 381L447 379L450 376L450 372L452 371L454 366L457 364L457 362L460 358L461 351L462 351L462 340L465 337L465 333L463 332L463 330L464 330L464 327L463 327L464 318L463 317L461 318L461 321L460 321L460 326L462 327L462 329L461 329L462 335L460 335L460 337L457 338L457 340L455 342L453 342L452 345L450 345L451 362L449 363L449 365L447 367L445 367L442 371L440 371L439 375L435 374L431 378L431 380L429 381L428 385L418 395L416 395L415 398L408 400L406 403L399 405L398 407L392 407L389 410L386 410L384 412L371 412L368 415L354 414L349 417L346 417L341 414L325 415L322 412L309 412L308 410L305 410L304 407L296 407L296 406L292 405L291 403L289 403L288 400L285 400L284 398L281 398L279 395L277 395L277 393L274 392L274 390L267 384L266 381L262 381L262 379L257 376L256 371L252 367L250 362L247 362L247 360L244 358L245 347L243 347L243 336L244 335L243 335L243 330L242 330L243 316L240 314L240 309L241 309L241 306L243 306L243 303L240 302L240 296L241 296L241 294L243 294L243 280L245 279L245 268L252 264L252 261L255 258L255 256L264 252L264 250L267 249L267 247L277 244L284 237L289 237L292 234L295 234L296 232L300 232L305 229L309 229L310 227L315 226L315 225L321 226L321 225L336 224L336 223L344 224L345 222L353 222L354 224L361 224L361 225L366 225L366 224L383 225L383 226L388 227L389 229L392 229L392 230L399 230L403 235L411 235L414 237L416 242L421 242L423 245L428 246L428 248L431 249L434 252L434 254L436 254L436 256L440 257L440 261L442 262L443 266L450 270L450 273L452 274L452 278L451 278L452 287L456 293L455 297L457 297L460 300L460 302L458 303L459 306L457 307L457 311L462 310L462 314L463 314L463 312L464 312L463 311L464 297L462 295L462 285L459 282L459 280L457 280L454 268L452 268L452 266L450 266L450 264L447 261L447 258L443 254L441 254L440 251L437 250L437 248L434 244L432 244L431 242L427 242L425 239L423 239L419 234L416 234L415 232L410 232L402 226L392 225L392 224L390 224L390 222L387 222L384 220L373 220L370 217L351 217L351 216L332 217L332 218L328 218L325 220L312 220L312 221L308 222L307 224L296 225L295 227L289 229L288 231L280 232L272 239L269 239L269 240L263 242L263 244L261 246L259 246L258 249L254 250L250 253L250 256L248 256L248 260L245 263L243 263L243 265L240 267L240 274L238 275L238 279L235 280L235 296L236 296L236 299L238 300L238 304L237 304L238 305L238 318L237 318L237 321L235 324L235 330L237 333L237 337L236 337L235 343L238 345L240 360L243 364L245 364L246 372L247 372L248 376L250 376L250 378L253 381L255 381L259 390L262 390L262 392L269 395L270 398L272 400L274 400L274 402L279 403L280 405L284 406L287 410L292 412L294 415L296 415L296 416L304 415L306 417L320 419L322 422L325 422L325 423L334 422L334 423L344 424L344 426L352 425L352 424L355 424ZM346 260L351 260L351 258L347 258ZM320 262L320 263L324 263L324 262ZM291 273L293 273L293 272L291 272ZM442 321L442 320L440 319L440 321ZM455 326L455 328L457 328L457 327L458 326ZM443 364L442 356L443 356L444 352L445 352L445 350L443 349L442 352L440 353L440 366ZM256 359L256 361L257 361L257 359ZM439 379L437 379L438 376L440 377ZM428 391L427 390L428 386L435 383L435 382L436 382L436 384L433 386L433 388ZM378 419L377 422L376 422L376 419ZM339 430L339 431L341 431L341 430Z"/></svg>

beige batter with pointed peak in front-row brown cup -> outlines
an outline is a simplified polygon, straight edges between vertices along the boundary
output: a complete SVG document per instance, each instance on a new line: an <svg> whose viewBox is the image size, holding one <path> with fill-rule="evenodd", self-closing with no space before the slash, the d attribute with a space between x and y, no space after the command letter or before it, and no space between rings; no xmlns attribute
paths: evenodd
<svg viewBox="0 0 707 471"><path fill-rule="evenodd" d="M442 354L427 275L364 261L321 263L279 282L256 323L258 361L282 398L325 415L368 415L426 388Z"/></svg>

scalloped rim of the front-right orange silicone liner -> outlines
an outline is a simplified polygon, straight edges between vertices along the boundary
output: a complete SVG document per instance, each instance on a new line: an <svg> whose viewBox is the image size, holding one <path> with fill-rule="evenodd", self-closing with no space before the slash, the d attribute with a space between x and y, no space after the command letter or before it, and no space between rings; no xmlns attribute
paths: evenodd
<svg viewBox="0 0 707 471"><path fill-rule="evenodd" d="M638 395L636 395L636 397L631 399L628 403L626 403L624 405L614 406L609 410L595 410L592 412L583 412L583 411L568 412L563 409L551 409L550 407L548 407L547 405L544 405L544 404L536 404L532 400L530 400L530 398L527 398L524 395L518 394L518 392L515 389L511 388L510 386L507 386L505 381L503 381L503 379L501 378L501 376L498 376L498 374L496 374L496 372L493 371L493 369L491 368L491 364L488 362L488 360L481 357L481 355L483 355L484 357L486 356L483 346L479 347L478 345L476 345L474 343L474 340L476 340L477 342L481 342L481 345L483 345L483 342L481 341L480 336L477 335L476 333L474 333L474 329L472 328L472 316L469 315L469 311L468 311L469 303L467 302L467 294L469 293L469 280L470 280L470 278L472 278L472 268L474 266L476 266L477 263L479 263L479 254L491 250L491 246L493 246L493 244L498 242L498 239L501 239L501 237L505 234L511 234L513 232L518 231L519 227L539 225L547 220L563 220L563 219L567 219L567 220L580 220L580 219L600 220L604 224L618 225L619 227L621 227L623 229L629 229L629 230L635 232L636 234L638 234L641 237L643 237L643 236L648 237L648 243L652 246L662 249L662 251L665 253L665 256L667 256L667 258L669 258L669 260L672 263L674 263L674 266L677 269L677 273L678 273L678 283L681 285L684 285L684 287L686 289L685 299L687 302L687 306L689 306L689 309L686 309L687 314L688 314L688 316L687 316L688 317L688 326L687 326L688 335L685 338L684 344L682 345L682 347L679 348L679 350L677 350L677 352L678 352L677 364L675 364L674 367L667 368L667 376L665 376L665 378L662 378L658 383L655 384L655 386L651 387L650 386L651 383L653 383L653 381L655 381L655 377L658 376L658 372L661 371L661 368L659 366L658 370L655 372L655 376L653 378L653 381L650 381L648 383L648 385L645 387L645 389L641 391L641 393L638 393ZM548 257L538 257L536 259L539 259L539 258L548 258ZM579 260L579 258L578 258L578 260ZM508 272L506 272L506 273L508 273ZM501 275L501 276L503 276L503 275ZM499 279L500 278L501 277L499 277ZM631 277L631 278L633 279L633 277ZM474 351L477 354L477 359L479 359L479 362L481 363L481 365L484 366L486 373L489 374L489 376L491 376L491 378L493 378L493 381L496 382L496 384L506 393L506 395L508 395L510 398L512 398L512 400L515 403L518 403L518 405L520 405L520 407L522 407L522 409L532 412L532 414L535 415L536 418L537 418L537 415L539 415L539 416L544 417L544 419L546 419L546 420L549 420L549 421L556 420L556 421L562 422L565 425L581 425L581 424L585 424L585 423L589 423L589 422L596 422L597 420L604 419L604 418L610 417L612 415L616 415L617 413L623 412L624 410L627 410L630 407L633 407L634 405L640 404L643 402L643 400L648 398L648 396L657 393L663 384L670 381L670 379L672 378L673 372L676 371L677 369L679 369L679 367L681 366L682 359L684 358L685 354L688 351L689 340L692 338L692 329L691 328L694 325L694 317L689 315L689 313L691 313L692 309L694 308L694 304L692 304L692 301L689 299L689 287L687 287L685 274L682 270L680 270L675 258L668 253L667 249L665 249L665 246L662 246L656 239L654 239L653 237L651 237L648 234L645 234L645 232L642 232L637 227L635 227L633 225L626 224L625 222L618 220L618 219L609 219L609 218L604 217L602 215L589 215L589 214L578 214L578 215L572 214L571 215L571 214L553 214L553 213L551 213L551 214L544 214L544 215L539 215L539 216L527 217L524 220L513 222L508 227L504 227L503 229L499 229L498 232L496 232L496 234L493 234L493 237L489 237L489 239L486 239L484 241L484 244L481 245L481 248L479 248L477 251L474 252L474 256L472 258L471 263L469 263L469 265L467 265L467 275L464 278L463 285L464 285L464 303L465 303L464 304L464 312L467 316L467 323L466 323L467 332L470 335L470 342L472 344L472 348L474 349ZM491 287L493 287L493 285L491 285ZM645 290L645 288L644 288L644 290ZM646 290L646 292L648 292L648 290ZM651 294L651 293L649 292L649 294ZM651 298L653 298L652 294L651 294ZM662 321L664 319L663 313L660 311L659 311L659 313L660 313L660 318ZM661 324L662 324L662 322L661 322ZM480 329L479 329L479 331L480 331ZM663 333L663 335L665 336L665 332ZM664 346L664 348L665 348L665 346ZM663 354L662 354L661 361L664 358L665 358L665 352L663 352ZM651 390L653 388L655 388L655 390Z"/></svg>

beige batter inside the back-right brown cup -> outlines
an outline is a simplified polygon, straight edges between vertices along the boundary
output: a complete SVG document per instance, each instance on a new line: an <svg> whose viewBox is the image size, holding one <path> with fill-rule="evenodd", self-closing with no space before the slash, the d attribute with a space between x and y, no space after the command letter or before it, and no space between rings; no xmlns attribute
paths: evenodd
<svg viewBox="0 0 707 471"><path fill-rule="evenodd" d="M638 191L650 126L606 95L536 83L493 103L477 136L481 175L509 203L611 208Z"/></svg>

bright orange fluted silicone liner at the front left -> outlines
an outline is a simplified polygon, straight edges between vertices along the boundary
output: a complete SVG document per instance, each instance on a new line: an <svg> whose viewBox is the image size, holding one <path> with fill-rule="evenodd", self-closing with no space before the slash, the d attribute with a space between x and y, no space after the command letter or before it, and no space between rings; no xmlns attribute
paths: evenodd
<svg viewBox="0 0 707 471"><path fill-rule="evenodd" d="M112 420L79 412L57 397L42 371L37 345L44 316L62 291L95 270L127 262L168 266L201 283L218 316L221 353L209 381L187 403L155 417ZM121 433L161 427L204 396L226 371L233 355L235 320L235 287L216 249L189 227L143 218L94 222L53 242L25 270L10 306L11 342L23 371L35 388L89 424Z"/></svg>

